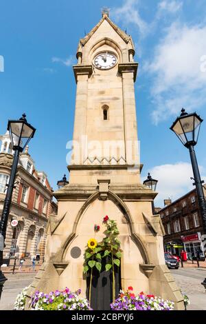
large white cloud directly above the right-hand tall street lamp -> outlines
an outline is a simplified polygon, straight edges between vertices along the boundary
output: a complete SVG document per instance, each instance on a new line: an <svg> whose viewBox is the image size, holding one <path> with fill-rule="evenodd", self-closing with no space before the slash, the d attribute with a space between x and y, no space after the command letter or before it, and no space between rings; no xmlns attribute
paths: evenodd
<svg viewBox="0 0 206 324"><path fill-rule="evenodd" d="M152 112L154 123L179 114L182 107L194 111L206 104L206 26L173 23L155 48L152 61L144 71L152 75ZM202 61L201 61L202 60Z"/></svg>

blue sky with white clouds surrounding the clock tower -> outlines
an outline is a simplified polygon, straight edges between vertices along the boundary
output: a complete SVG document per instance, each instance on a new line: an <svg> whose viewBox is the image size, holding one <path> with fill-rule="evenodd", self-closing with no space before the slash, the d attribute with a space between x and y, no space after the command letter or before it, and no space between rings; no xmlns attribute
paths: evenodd
<svg viewBox="0 0 206 324"><path fill-rule="evenodd" d="M80 38L101 19L100 9L131 34L139 71L135 83L142 178L159 179L157 205L192 189L187 150L169 130L182 107L206 112L206 6L204 0L0 0L0 133L8 119L36 127L30 154L53 188L67 173L76 83L72 64ZM196 153L206 179L203 122Z"/></svg>

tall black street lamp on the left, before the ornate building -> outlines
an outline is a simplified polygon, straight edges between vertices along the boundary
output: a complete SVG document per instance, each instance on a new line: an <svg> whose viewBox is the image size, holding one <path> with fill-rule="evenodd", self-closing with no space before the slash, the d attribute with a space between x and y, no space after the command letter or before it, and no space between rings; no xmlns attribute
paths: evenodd
<svg viewBox="0 0 206 324"><path fill-rule="evenodd" d="M12 192L14 189L14 180L16 176L16 168L19 162L19 154L23 152L27 143L34 136L36 129L27 123L25 119L26 115L23 114L19 120L8 121L8 130L10 132L10 139L12 141L12 150L14 150L14 159L12 163L12 169L10 174L10 181L8 183L7 192L5 195L5 201L3 204L3 212L0 220L0 269L3 264L3 249L5 247L5 234L8 224L8 216L10 213L10 205L12 201ZM3 289L3 284L7 279L0 270L0 298Z"/></svg>

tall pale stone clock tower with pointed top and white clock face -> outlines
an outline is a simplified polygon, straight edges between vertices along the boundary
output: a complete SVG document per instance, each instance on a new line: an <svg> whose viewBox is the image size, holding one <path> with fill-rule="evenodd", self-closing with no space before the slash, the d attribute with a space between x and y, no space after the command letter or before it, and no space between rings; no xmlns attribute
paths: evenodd
<svg viewBox="0 0 206 324"><path fill-rule="evenodd" d="M159 215L152 215L157 193L140 181L134 55L131 37L106 12L80 40L73 66L77 90L69 184L54 192L58 216L51 216L45 263L28 297L34 290L66 286L87 294L84 250L94 236L102 241L102 219L108 215L120 233L119 287L132 285L135 292L168 298L183 309L183 297L164 261L163 225ZM94 234L95 224L100 231ZM104 295L110 302L104 293L95 298Z"/></svg>

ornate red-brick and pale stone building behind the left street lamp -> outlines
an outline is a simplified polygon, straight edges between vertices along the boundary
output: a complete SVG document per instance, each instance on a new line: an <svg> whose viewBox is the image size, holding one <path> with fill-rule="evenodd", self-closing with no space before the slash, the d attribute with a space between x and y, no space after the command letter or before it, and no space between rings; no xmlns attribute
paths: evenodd
<svg viewBox="0 0 206 324"><path fill-rule="evenodd" d="M13 152L8 132L0 136L0 214L3 210L6 184L9 181L12 167ZM52 201L52 188L47 174L38 172L34 160L28 153L20 154L16 172L15 188L12 194L12 204L5 239L4 259L10 256L25 257L45 253L45 228L49 215L56 214L57 205ZM12 226L12 219L18 225Z"/></svg>

